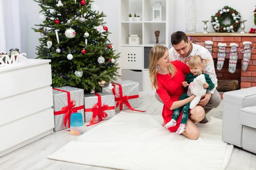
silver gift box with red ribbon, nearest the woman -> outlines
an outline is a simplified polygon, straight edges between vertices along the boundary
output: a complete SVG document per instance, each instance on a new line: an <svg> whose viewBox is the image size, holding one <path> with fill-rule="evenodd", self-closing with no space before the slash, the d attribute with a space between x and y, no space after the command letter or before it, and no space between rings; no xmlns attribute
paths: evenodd
<svg viewBox="0 0 256 170"><path fill-rule="evenodd" d="M131 109L127 105L127 102L132 108L138 107L138 82L134 82L131 80L124 80L124 81L113 82L112 85L114 86L114 90L113 88L110 88L110 87L103 87L102 91L113 93L113 94L115 93L114 95L116 100L116 111ZM121 88L122 90L121 95L120 95L119 88Z"/></svg>

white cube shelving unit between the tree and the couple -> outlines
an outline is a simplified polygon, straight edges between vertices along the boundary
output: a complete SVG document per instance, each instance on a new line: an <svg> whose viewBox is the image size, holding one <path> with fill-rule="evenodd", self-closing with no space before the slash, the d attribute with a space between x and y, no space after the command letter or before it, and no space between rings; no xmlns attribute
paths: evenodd
<svg viewBox="0 0 256 170"><path fill-rule="evenodd" d="M153 6L161 2L161 20L153 20ZM139 83L139 91L155 93L149 80L149 51L156 44L155 31L160 31L159 44L168 47L169 36L168 0L121 0L120 1L120 49L122 80ZM140 21L129 21L128 15L140 16ZM129 35L138 34L140 44L129 44Z"/></svg>

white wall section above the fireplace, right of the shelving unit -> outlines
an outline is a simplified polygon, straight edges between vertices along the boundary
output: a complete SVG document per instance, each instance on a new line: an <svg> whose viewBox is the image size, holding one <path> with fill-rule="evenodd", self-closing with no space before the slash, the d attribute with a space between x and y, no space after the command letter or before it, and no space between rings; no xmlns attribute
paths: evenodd
<svg viewBox="0 0 256 170"><path fill-rule="evenodd" d="M175 0L175 29L172 31L185 31L185 0ZM203 22L202 20L209 20L207 22L208 31L214 32L211 25L211 16L224 6L230 6L231 8L238 11L241 15L241 19L246 19L245 31L248 33L250 28L255 28L254 26L254 9L256 1L253 0L195 0L197 6L197 33L203 32Z"/></svg>

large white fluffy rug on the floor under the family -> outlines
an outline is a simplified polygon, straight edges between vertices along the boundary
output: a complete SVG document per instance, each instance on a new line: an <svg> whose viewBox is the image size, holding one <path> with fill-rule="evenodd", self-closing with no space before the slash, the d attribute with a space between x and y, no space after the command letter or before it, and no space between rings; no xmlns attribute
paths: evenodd
<svg viewBox="0 0 256 170"><path fill-rule="evenodd" d="M233 145L221 140L222 120L210 119L190 140L162 127L159 115L120 112L48 158L123 170L224 170Z"/></svg>

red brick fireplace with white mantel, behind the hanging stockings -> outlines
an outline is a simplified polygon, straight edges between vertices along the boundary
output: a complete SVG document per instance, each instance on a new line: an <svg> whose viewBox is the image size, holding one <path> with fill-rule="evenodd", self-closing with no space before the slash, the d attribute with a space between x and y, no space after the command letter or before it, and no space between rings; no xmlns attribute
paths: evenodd
<svg viewBox="0 0 256 170"><path fill-rule="evenodd" d="M256 86L256 34L240 34L240 33L195 33L187 34L191 37L193 43L205 46L206 40L213 41L213 58L215 61L215 70L218 81L238 81L238 89ZM252 42L252 55L249 62L249 66L246 71L242 70L242 59L243 59L243 47L244 41ZM230 43L238 44L237 47L237 64L235 73L228 72L229 56L230 56ZM216 69L217 65L217 53L218 43L226 43L226 57L223 68L221 70Z"/></svg>

